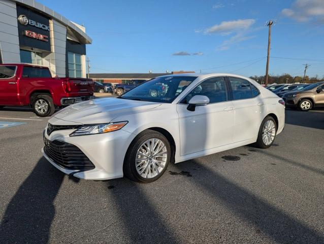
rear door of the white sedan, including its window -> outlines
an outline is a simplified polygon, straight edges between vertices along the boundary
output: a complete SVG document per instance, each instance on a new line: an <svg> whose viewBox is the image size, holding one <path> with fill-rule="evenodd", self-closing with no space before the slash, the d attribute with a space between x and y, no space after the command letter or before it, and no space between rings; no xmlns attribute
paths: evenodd
<svg viewBox="0 0 324 244"><path fill-rule="evenodd" d="M259 130L265 105L260 92L249 81L228 77L235 109L233 141L240 142L254 138Z"/></svg>

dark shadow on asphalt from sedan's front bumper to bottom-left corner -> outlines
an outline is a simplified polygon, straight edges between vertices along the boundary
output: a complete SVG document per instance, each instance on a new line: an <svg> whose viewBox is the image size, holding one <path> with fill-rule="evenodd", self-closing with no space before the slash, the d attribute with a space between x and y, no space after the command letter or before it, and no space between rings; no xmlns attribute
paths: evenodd
<svg viewBox="0 0 324 244"><path fill-rule="evenodd" d="M7 205L1 243L47 243L64 174L41 158Z"/></svg>

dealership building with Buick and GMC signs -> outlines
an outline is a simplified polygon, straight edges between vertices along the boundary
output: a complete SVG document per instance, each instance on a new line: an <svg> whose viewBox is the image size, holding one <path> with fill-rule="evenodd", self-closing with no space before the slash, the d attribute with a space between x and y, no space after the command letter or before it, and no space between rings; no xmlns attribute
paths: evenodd
<svg viewBox="0 0 324 244"><path fill-rule="evenodd" d="M50 68L58 77L86 77L85 28L33 0L0 0L0 63Z"/></svg>

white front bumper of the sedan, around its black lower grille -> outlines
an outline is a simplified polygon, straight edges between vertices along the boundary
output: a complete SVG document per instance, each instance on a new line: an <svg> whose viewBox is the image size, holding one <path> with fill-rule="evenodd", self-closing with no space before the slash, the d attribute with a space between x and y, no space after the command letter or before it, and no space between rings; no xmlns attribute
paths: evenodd
<svg viewBox="0 0 324 244"><path fill-rule="evenodd" d="M62 121L62 120L61 120ZM62 122L58 125L61 125ZM52 121L50 122L52 123ZM55 162L51 155L42 148L43 156L57 169L63 173L74 175L82 179L113 179L123 177L123 161L129 144L135 138L135 135L124 130L114 131L104 134L69 136L72 130L54 131L50 135L46 133L44 137L53 142L60 141L72 144L78 147L82 153L94 165L93 169L69 169L62 167L62 164ZM59 154L60 152L58 152ZM62 156L64 157L64 156Z"/></svg>

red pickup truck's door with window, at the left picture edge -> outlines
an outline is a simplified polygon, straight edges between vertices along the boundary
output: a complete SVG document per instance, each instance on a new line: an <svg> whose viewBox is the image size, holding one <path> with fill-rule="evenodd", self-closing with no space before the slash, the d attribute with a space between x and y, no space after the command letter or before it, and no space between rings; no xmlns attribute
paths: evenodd
<svg viewBox="0 0 324 244"><path fill-rule="evenodd" d="M19 105L17 66L0 66L0 104Z"/></svg>

